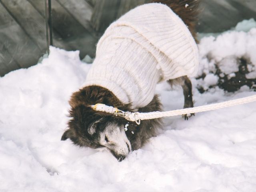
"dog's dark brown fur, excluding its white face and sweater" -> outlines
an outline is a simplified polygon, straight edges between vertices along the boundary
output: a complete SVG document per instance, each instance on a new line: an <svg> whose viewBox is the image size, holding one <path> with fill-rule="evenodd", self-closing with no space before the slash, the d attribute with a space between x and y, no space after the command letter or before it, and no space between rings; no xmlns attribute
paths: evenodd
<svg viewBox="0 0 256 192"><path fill-rule="evenodd" d="M170 6L170 8L182 18L184 23L188 26L192 35L196 36L194 26L197 17L197 0L154 0L154 2L161 2ZM185 5L189 6L186 8ZM180 84L184 93L184 108L192 107L192 85L187 76L183 76L174 80L168 80L170 85ZM117 107L123 111L133 112L130 107L131 104L123 104L118 98L108 89L100 86L87 86L74 92L70 98L70 121L68 122L68 130L64 132L61 140L70 138L74 144L78 146L88 146L91 148L102 147L98 144L98 136L108 122L115 122L124 127L129 123L128 130L125 132L132 150L141 148L143 144L152 136L156 136L158 128L161 127L160 119L142 120L140 125L135 122L128 122L124 118L113 116L105 112L94 111L90 106L102 103L109 106ZM162 105L155 95L153 100L145 107L138 108L138 112L152 112L161 111ZM188 119L190 116L184 116ZM89 127L93 122L98 121L96 132L89 134Z"/></svg>

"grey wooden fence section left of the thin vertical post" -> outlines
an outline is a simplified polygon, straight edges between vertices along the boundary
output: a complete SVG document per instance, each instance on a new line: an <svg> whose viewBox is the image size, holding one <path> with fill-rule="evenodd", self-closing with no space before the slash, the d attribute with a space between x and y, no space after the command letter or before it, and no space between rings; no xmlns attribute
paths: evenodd
<svg viewBox="0 0 256 192"><path fill-rule="evenodd" d="M46 52L44 3L42 12L34 4L0 0L0 76L36 64Z"/></svg>

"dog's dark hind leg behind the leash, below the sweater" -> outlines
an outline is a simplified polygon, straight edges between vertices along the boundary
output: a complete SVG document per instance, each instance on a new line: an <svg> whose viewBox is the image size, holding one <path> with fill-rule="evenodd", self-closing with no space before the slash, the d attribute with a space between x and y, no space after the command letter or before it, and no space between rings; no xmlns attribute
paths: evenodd
<svg viewBox="0 0 256 192"><path fill-rule="evenodd" d="M184 95L184 108L190 108L193 107L193 98L192 98L192 84L188 76L182 76L176 79L168 80L168 83L173 86L173 85L180 85L182 86L183 89L183 95ZM185 114L183 117L185 120L188 120L191 116L195 115L194 113L192 114Z"/></svg>

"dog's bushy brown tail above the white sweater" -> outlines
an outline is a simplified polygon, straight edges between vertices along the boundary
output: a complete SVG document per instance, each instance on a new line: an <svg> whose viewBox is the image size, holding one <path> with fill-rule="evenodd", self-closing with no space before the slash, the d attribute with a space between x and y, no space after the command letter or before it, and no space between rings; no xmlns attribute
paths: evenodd
<svg viewBox="0 0 256 192"><path fill-rule="evenodd" d="M188 26L192 36L196 39L195 26L198 20L198 6L200 0L153 0L155 3L166 4Z"/></svg>

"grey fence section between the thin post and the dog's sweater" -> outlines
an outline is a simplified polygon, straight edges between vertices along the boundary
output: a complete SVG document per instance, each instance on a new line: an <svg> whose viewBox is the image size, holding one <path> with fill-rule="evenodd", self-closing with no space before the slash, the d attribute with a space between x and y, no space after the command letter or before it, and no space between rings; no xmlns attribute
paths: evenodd
<svg viewBox="0 0 256 192"><path fill-rule="evenodd" d="M34 0L40 2L40 0ZM148 0L51 0L53 45L95 56L104 30L124 12Z"/></svg>

